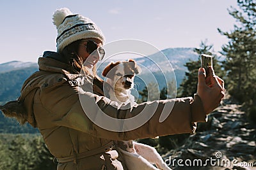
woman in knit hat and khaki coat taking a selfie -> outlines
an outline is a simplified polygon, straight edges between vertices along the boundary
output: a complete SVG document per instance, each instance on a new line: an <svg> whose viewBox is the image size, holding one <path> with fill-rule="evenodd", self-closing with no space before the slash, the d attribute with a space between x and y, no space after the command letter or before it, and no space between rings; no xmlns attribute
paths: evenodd
<svg viewBox="0 0 256 170"><path fill-rule="evenodd" d="M39 71L25 81L18 101L1 107L8 117L22 124L29 122L42 134L58 169L127 169L113 140L154 138L168 134L193 133L196 122L207 121L207 114L220 104L224 82L210 69L211 87L205 84L205 71L198 72L198 90L192 97L142 103L123 110L123 118L138 115L143 108L157 104L146 124L127 132L108 131L87 117L79 96L95 99L99 110L118 117L116 103L104 97L102 81L95 64L104 57L104 36L89 18L72 14L67 8L53 15L58 30L57 52L44 52L38 59ZM83 66L84 63L84 66ZM82 70L83 74L79 74ZM81 89L92 85L93 93ZM164 106L174 103L164 122L159 117ZM92 103L85 103L91 108ZM99 111L95 109L95 113Z"/></svg>

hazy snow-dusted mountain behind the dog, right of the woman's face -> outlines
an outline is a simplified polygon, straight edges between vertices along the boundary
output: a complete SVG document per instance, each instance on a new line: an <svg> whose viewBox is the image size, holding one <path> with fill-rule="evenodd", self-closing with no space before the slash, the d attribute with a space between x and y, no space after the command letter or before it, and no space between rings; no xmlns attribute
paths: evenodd
<svg viewBox="0 0 256 170"><path fill-rule="evenodd" d="M141 85L137 90L142 90L144 88L143 85L148 85L150 82L157 83L159 90L161 90L166 87L168 81L176 82L176 87L178 88L185 76L185 72L188 71L184 64L189 60L197 60L198 57L193 48L167 48L152 55L134 58L142 69L141 73L135 78L135 81ZM117 58L106 60L103 63L99 62L98 74L101 75L104 67L109 62L117 60L123 59Z"/></svg>

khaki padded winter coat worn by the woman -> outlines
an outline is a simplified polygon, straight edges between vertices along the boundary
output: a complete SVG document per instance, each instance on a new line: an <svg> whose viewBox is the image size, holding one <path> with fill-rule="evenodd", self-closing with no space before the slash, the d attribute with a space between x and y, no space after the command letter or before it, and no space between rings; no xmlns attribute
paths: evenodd
<svg viewBox="0 0 256 170"><path fill-rule="evenodd" d="M206 120L200 98L195 95L194 99L185 97L154 101L123 110L121 117L128 118L138 115L146 106L149 110L157 106L152 118L137 129L127 132L108 131L93 124L79 101L79 95L93 98L106 115L120 118L120 110L113 107L116 103L103 97L99 86L93 85L95 94L84 92L78 85L86 85L87 78L70 74L67 65L58 60L41 57L38 65L40 71L32 74L22 87L20 103L28 113L29 124L40 130L49 151L59 161L58 170L127 169L125 160L111 141L191 134L196 129L194 122ZM159 122L163 107L172 103L175 104L170 115L164 122ZM91 103L83 105L93 106ZM99 108L93 114L97 114Z"/></svg>

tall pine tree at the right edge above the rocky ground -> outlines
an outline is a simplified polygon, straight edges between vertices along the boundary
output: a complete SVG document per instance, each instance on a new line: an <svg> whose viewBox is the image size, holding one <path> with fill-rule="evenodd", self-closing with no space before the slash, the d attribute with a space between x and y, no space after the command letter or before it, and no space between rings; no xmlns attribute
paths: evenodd
<svg viewBox="0 0 256 170"><path fill-rule="evenodd" d="M222 47L226 60L228 92L244 103L250 117L256 120L256 0L237 0L239 9L228 10L237 24L230 32L218 31L227 36L228 43Z"/></svg>

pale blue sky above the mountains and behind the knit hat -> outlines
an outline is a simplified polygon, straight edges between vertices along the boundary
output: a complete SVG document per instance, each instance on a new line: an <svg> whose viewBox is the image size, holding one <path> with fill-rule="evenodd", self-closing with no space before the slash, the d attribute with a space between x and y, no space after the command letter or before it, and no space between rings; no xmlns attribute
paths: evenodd
<svg viewBox="0 0 256 170"><path fill-rule="evenodd" d="M198 47L208 40L215 51L227 43L217 28L230 31L235 24L227 11L235 0L10 0L1 1L0 64L12 60L37 62L45 50L56 50L52 13L69 8L91 18L104 32L106 43L140 39L159 50Z"/></svg>

